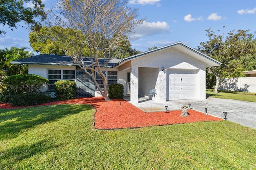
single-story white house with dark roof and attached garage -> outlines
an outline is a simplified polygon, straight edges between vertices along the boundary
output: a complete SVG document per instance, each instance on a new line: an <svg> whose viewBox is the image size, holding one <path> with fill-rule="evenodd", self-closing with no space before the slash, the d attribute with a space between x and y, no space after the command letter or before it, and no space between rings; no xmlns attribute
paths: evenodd
<svg viewBox="0 0 256 170"><path fill-rule="evenodd" d="M84 58L90 66L88 58ZM101 65L106 59L100 59ZM49 91L54 91L54 82L60 79L74 80L77 97L99 96L92 78L84 73L69 56L35 55L12 61L12 64L28 64L28 73L49 79ZM149 97L151 89L156 90L153 100L165 102L181 99L206 99L206 67L221 65L216 61L185 45L173 43L125 59L111 59L106 68L108 84L124 85L124 96L130 96L132 103L138 97ZM99 84L100 76L96 75Z"/></svg>

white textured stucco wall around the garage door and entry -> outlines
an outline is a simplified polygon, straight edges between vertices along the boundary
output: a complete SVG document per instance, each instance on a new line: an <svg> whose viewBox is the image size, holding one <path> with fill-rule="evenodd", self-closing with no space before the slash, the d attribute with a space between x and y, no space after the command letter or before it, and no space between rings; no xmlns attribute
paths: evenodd
<svg viewBox="0 0 256 170"><path fill-rule="evenodd" d="M180 51L169 48L162 51L157 51L138 57L132 60L132 72L131 72L131 102L138 103L138 95L140 94L138 79L141 78L142 74L138 71L139 67L153 67L158 68L158 78L156 84L144 84L144 86L152 86L156 90L156 97L153 100L162 102L166 101L166 69L196 69L197 74L197 98L205 99L205 63L196 60ZM164 67L164 71L162 71ZM143 72L144 70L142 70ZM144 74L144 73L143 73ZM150 77L147 77L150 79ZM141 84L140 84L141 85ZM150 87L150 88L152 88ZM145 87L148 89L148 87ZM144 91L143 91L144 93ZM149 93L149 91L148 91Z"/></svg>

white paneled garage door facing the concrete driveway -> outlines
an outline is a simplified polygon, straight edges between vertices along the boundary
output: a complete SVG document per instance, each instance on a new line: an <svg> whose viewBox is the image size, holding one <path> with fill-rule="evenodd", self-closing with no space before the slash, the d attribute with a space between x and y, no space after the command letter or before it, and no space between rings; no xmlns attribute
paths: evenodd
<svg viewBox="0 0 256 170"><path fill-rule="evenodd" d="M169 70L169 100L196 99L196 70Z"/></svg>

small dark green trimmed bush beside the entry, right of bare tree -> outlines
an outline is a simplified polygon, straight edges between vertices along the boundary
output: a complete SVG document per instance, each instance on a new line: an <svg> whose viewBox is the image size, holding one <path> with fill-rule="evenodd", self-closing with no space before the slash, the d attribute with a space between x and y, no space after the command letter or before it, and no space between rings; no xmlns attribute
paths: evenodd
<svg viewBox="0 0 256 170"><path fill-rule="evenodd" d="M108 97L110 99L123 99L124 98L124 85L122 85L122 84L108 85Z"/></svg>

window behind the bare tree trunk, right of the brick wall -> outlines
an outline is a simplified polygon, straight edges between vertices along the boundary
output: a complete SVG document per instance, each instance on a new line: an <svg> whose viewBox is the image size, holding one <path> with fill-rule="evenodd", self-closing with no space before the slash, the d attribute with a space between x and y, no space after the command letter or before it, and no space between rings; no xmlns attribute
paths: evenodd
<svg viewBox="0 0 256 170"><path fill-rule="evenodd" d="M109 84L117 84L117 71L102 71L105 75L106 75L106 78L107 78L107 83L108 85ZM107 74L106 74L107 73ZM98 83L98 85L100 86L100 88L104 88L104 85L103 85L103 80L100 76L100 74L96 73L96 81Z"/></svg>

